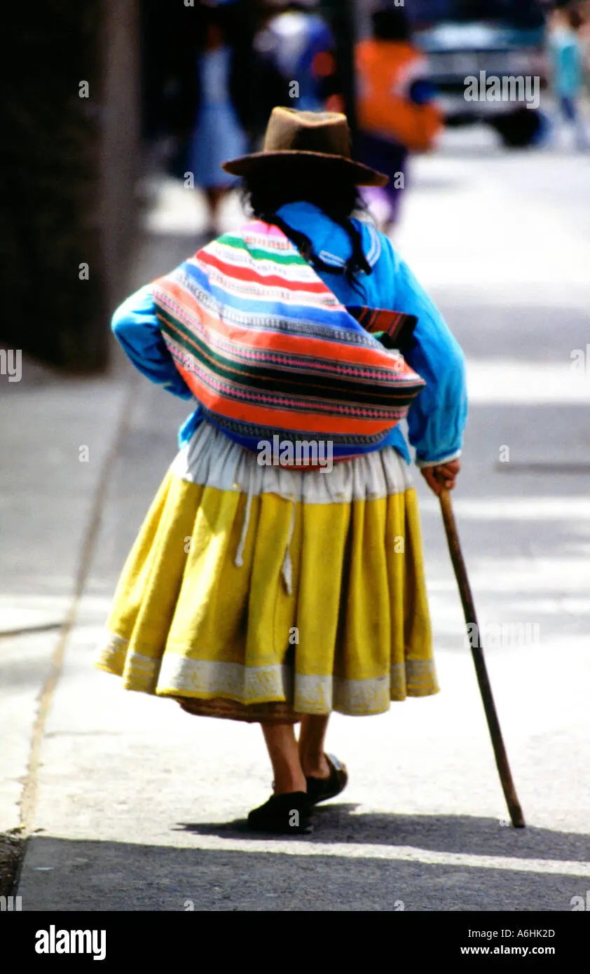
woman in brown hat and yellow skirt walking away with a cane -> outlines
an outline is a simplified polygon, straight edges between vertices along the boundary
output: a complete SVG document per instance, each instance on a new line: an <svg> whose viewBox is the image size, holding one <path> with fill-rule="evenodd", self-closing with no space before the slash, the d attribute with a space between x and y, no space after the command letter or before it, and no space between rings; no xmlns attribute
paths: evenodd
<svg viewBox="0 0 590 974"><path fill-rule="evenodd" d="M97 665L188 713L260 723L274 794L248 827L300 835L347 784L325 753L330 714L438 692L400 422L432 490L453 488L463 356L353 216L358 187L387 177L350 158L345 116L277 108L263 151L224 169L250 221L113 319L131 361L197 408Z"/></svg>

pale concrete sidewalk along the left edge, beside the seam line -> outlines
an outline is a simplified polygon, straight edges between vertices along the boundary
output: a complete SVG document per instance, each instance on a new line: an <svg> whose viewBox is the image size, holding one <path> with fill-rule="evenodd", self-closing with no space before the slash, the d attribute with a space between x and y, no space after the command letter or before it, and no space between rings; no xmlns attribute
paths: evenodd
<svg viewBox="0 0 590 974"><path fill-rule="evenodd" d="M0 377L0 833L14 839L34 827L45 724L125 429L134 377L121 365L89 382L25 359L20 383Z"/></svg>

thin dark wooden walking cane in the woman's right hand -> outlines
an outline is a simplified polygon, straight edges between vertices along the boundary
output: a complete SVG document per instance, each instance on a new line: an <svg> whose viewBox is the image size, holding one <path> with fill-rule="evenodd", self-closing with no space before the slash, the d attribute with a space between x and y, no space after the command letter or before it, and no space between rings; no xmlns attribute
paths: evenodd
<svg viewBox="0 0 590 974"><path fill-rule="evenodd" d="M455 575L459 584L461 603L465 623L467 625L467 631L475 632L476 634L475 640L472 638L469 640L471 644L471 656L473 656L475 672L477 674L477 682L479 684L482 700L484 701L484 710L486 712L488 727L492 736L492 744L494 746L494 754L496 756L499 779L504 792L504 798L506 799L506 805L508 805L508 811L510 812L512 825L515 829L524 829L526 824L525 816L523 815L523 810L520 806L520 802L518 801L518 796L512 780L512 774L510 773L508 756L506 754L506 749L502 740L502 733L499 727L498 714L496 712L494 696L492 695L492 687L490 685L490 678L488 677L486 660L484 659L482 647L479 645L479 627L477 625L477 617L475 615L475 605L473 604L471 586L469 585L467 571L461 552L461 543L459 541L457 524L455 522L451 495L448 490L443 490L441 492L440 507L442 510L447 541L449 543L451 561L453 562L453 568L455 569ZM475 628L469 630L469 626L474 626Z"/></svg>

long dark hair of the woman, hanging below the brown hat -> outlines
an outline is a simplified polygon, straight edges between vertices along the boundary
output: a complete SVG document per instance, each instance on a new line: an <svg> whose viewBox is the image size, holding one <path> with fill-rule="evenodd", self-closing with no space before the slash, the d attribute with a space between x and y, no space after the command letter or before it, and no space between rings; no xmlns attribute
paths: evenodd
<svg viewBox="0 0 590 974"><path fill-rule="evenodd" d="M350 219L355 209L366 209L366 206L344 167L340 169L328 161L301 156L296 160L276 160L272 171L251 173L242 179L242 200L257 219L279 227L315 270L344 274L353 287L358 285L355 278L360 272L373 273L362 249L360 233ZM286 203L301 202L317 206L349 235L352 252L344 268L322 261L313 250L310 238L277 216L277 209Z"/></svg>

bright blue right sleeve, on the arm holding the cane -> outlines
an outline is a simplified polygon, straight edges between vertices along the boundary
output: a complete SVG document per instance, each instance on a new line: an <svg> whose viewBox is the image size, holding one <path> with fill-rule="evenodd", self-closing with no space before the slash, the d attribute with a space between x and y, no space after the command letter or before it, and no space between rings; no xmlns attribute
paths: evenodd
<svg viewBox="0 0 590 974"><path fill-rule="evenodd" d="M408 413L408 434L418 467L433 467L461 455L467 419L465 360L461 346L422 285L392 250L394 310L415 315L414 345L408 364L426 387Z"/></svg>

